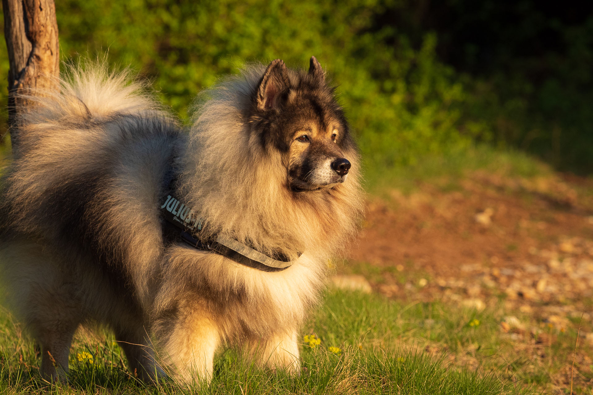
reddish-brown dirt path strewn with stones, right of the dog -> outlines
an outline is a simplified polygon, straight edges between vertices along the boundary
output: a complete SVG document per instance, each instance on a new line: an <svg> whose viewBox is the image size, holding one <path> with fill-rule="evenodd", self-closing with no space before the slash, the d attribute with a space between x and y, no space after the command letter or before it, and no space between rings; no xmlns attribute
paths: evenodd
<svg viewBox="0 0 593 395"><path fill-rule="evenodd" d="M409 195L393 190L390 199L368 204L359 245L339 274L362 274L372 290L398 300L478 310L503 300L509 316L500 332L517 341L517 349L531 347L531 357L543 338L576 332L580 324L576 365L586 370L579 377L589 381L591 191L591 180L576 177L526 180L479 173L455 184L420 184ZM553 381L561 387L569 373L561 371Z"/></svg>

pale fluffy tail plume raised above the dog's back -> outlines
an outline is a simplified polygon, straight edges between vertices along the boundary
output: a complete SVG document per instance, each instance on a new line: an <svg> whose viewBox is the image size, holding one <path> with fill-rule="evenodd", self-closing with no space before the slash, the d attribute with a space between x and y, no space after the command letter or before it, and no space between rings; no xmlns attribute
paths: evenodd
<svg viewBox="0 0 593 395"><path fill-rule="evenodd" d="M133 81L129 70L110 71L107 63L79 62L63 65L54 91L31 89L23 98L34 103L28 111L18 111L18 124L105 120L113 115L161 113L146 84Z"/></svg>

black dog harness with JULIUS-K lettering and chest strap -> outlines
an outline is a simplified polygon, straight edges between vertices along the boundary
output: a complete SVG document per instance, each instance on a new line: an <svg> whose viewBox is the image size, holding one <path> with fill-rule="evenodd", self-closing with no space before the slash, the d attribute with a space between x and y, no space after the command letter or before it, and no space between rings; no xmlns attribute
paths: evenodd
<svg viewBox="0 0 593 395"><path fill-rule="evenodd" d="M170 169L165 175L166 192L160 205L161 215L164 219L162 230L167 239L171 241L183 240L193 248L216 252L241 265L265 272L282 271L294 263L283 253L275 253L272 258L231 237L216 235L208 240L200 237L204 221L196 216L192 208L177 197L175 184L176 177L173 170Z"/></svg>

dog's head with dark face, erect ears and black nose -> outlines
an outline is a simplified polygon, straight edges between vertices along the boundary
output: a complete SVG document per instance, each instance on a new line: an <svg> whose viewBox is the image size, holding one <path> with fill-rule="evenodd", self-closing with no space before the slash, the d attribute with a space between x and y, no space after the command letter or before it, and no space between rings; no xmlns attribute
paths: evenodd
<svg viewBox="0 0 593 395"><path fill-rule="evenodd" d="M319 190L346 181L356 145L314 56L308 72L288 70L279 59L270 63L252 103L250 140L282 154L291 190Z"/></svg>

